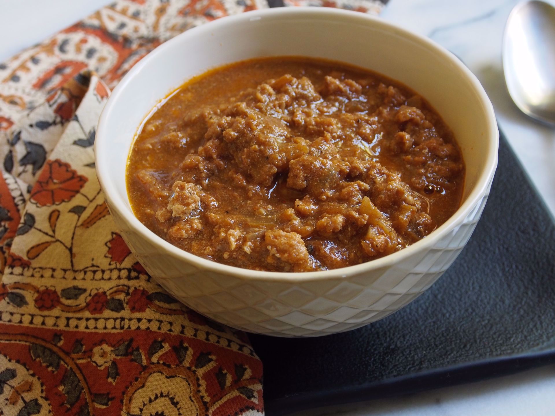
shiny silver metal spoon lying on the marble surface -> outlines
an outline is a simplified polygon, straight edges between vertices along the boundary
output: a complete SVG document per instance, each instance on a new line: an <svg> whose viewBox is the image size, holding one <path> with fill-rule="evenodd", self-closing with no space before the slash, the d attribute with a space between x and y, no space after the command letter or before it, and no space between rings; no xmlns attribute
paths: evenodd
<svg viewBox="0 0 555 416"><path fill-rule="evenodd" d="M555 7L517 4L503 35L507 89L524 114L555 125Z"/></svg>

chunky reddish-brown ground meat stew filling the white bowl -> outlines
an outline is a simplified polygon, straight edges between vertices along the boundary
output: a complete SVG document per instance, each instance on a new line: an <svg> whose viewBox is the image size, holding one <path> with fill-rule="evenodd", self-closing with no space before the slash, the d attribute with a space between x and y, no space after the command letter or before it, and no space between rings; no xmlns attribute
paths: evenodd
<svg viewBox="0 0 555 416"><path fill-rule="evenodd" d="M465 164L425 99L321 59L226 65L176 89L140 127L135 216L194 255L261 271L386 256L460 206Z"/></svg>

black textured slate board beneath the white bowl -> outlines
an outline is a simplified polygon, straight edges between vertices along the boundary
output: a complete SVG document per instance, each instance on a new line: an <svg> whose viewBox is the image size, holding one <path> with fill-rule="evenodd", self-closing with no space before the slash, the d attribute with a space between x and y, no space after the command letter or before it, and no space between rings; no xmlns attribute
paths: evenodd
<svg viewBox="0 0 555 416"><path fill-rule="evenodd" d="M451 268L401 311L320 338L250 335L268 416L477 381L555 362L555 223L506 139Z"/></svg>

